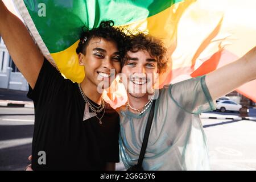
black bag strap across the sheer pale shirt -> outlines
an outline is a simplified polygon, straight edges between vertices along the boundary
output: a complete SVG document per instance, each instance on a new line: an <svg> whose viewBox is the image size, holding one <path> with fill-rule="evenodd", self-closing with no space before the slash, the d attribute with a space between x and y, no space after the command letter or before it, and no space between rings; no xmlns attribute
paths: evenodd
<svg viewBox="0 0 256 182"><path fill-rule="evenodd" d="M144 133L141 152L139 153L139 160L138 160L138 164L137 164L138 167L142 167L142 162L143 162L144 155L145 155L146 148L147 148L148 137L150 135L150 129L151 129L152 121L154 118L154 109L155 109L155 100L152 103L152 107L150 109L150 114L148 115L147 126L146 126L145 133Z"/></svg>

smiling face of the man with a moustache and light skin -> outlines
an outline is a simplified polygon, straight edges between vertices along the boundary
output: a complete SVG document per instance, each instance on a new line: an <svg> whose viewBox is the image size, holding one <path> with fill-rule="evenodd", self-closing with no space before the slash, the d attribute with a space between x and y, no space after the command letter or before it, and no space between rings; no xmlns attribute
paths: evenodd
<svg viewBox="0 0 256 182"><path fill-rule="evenodd" d="M147 95L154 86L157 72L156 59L147 51L127 52L127 59L122 68L122 81L127 93L136 98Z"/></svg>

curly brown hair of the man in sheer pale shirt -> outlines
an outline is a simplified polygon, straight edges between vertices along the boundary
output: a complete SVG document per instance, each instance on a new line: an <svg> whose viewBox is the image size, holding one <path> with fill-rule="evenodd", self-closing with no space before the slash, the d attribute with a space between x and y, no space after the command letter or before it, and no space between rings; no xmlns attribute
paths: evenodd
<svg viewBox="0 0 256 182"><path fill-rule="evenodd" d="M130 49L131 52L138 52L141 50L147 51L151 57L156 58L158 73L163 73L166 71L168 56L167 56L167 48L164 47L162 40L144 34L142 32L131 35ZM122 65L124 65L127 61L127 56L124 57L122 61Z"/></svg>

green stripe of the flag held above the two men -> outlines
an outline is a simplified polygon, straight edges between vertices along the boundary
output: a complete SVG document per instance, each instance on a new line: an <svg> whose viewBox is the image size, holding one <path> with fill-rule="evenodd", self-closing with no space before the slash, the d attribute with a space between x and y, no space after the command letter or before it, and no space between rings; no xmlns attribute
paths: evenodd
<svg viewBox="0 0 256 182"><path fill-rule="evenodd" d="M50 53L60 52L79 39L82 26L97 27L101 20L123 25L158 14L181 0L24 0ZM39 16L46 5L46 16ZM40 8L41 7L41 8Z"/></svg>

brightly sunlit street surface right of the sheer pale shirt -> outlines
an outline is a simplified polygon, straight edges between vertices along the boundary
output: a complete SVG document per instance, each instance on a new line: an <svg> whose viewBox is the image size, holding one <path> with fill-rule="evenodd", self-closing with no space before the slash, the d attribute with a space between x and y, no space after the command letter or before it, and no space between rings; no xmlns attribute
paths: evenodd
<svg viewBox="0 0 256 182"><path fill-rule="evenodd" d="M256 170L256 122L202 119L212 170Z"/></svg>

